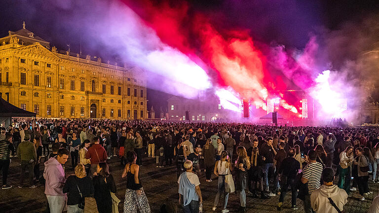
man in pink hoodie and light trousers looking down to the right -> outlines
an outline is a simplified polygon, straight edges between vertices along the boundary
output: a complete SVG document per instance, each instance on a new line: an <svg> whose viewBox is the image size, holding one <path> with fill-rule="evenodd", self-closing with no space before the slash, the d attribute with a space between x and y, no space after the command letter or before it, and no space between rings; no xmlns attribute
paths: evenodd
<svg viewBox="0 0 379 213"><path fill-rule="evenodd" d="M50 213L62 213L65 209L67 197L63 193L66 182L63 166L69 158L69 150L63 148L58 150L56 157L45 162L43 177L45 178L45 194L49 203Z"/></svg>

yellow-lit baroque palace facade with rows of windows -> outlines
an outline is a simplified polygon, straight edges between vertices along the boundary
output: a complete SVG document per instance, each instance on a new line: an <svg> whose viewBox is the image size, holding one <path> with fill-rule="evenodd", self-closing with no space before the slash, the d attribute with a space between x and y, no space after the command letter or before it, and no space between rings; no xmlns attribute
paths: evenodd
<svg viewBox="0 0 379 213"><path fill-rule="evenodd" d="M65 51L23 29L0 38L0 94L46 118L147 118L146 76ZM64 53L64 52L63 52Z"/></svg>

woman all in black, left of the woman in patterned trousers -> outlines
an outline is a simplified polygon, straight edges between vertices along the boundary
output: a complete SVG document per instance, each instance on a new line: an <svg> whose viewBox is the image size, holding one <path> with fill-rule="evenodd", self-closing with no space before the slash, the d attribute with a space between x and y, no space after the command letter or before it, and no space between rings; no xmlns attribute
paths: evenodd
<svg viewBox="0 0 379 213"><path fill-rule="evenodd" d="M97 210L99 213L112 213L111 192L116 193L116 184L113 176L109 174L108 164L99 163L94 175L92 181L95 188Z"/></svg>

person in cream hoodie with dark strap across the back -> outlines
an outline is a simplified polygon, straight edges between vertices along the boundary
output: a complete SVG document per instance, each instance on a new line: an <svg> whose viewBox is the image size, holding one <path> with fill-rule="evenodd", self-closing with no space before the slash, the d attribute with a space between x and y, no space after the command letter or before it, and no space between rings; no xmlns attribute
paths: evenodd
<svg viewBox="0 0 379 213"><path fill-rule="evenodd" d="M333 184L332 168L326 167L321 177L324 184L310 195L312 209L316 213L341 213L343 206L347 203L346 191Z"/></svg>

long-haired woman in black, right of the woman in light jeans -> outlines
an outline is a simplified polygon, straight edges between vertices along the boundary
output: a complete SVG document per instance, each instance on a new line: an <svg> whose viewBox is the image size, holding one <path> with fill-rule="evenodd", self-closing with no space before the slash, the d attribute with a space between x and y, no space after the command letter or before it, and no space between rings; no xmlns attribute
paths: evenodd
<svg viewBox="0 0 379 213"><path fill-rule="evenodd" d="M264 162L262 160L262 156L259 154L258 147L253 147L251 150L251 156L250 156L250 169L248 170L248 185L249 185L249 192L250 194L253 194L253 197L256 198L256 188L257 183L259 183L259 191L261 192L261 198L267 199L267 195L265 195L265 192L263 191L263 166Z"/></svg>

